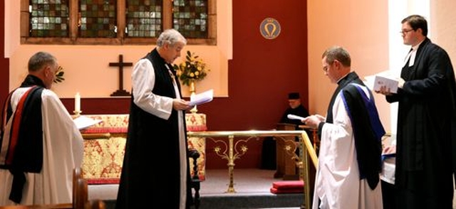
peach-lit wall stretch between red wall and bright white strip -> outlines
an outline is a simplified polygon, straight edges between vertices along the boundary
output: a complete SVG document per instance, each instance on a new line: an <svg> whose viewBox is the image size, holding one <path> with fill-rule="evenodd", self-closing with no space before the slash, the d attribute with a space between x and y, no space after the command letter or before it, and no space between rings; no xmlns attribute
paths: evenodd
<svg viewBox="0 0 456 209"><path fill-rule="evenodd" d="M341 45L352 69L364 77L388 69L388 1L307 1L309 21L309 112L326 115L336 84L321 68L321 54ZM375 8L375 9L373 9ZM375 95L375 94L374 94ZM389 127L390 109L375 95L380 119Z"/></svg>

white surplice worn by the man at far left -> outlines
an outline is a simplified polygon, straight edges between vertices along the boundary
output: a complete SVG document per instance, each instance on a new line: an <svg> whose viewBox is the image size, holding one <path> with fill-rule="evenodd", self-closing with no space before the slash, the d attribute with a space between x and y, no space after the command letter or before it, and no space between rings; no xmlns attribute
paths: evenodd
<svg viewBox="0 0 456 209"><path fill-rule="evenodd" d="M13 111L28 89L29 87L22 87L13 93ZM71 115L54 92L43 90L41 100L43 168L40 173L26 173L21 205L71 203L73 168L81 167L83 138ZM12 118L6 124L4 143L9 139ZM12 181L13 176L9 170L0 169L0 205L15 205L9 200Z"/></svg>

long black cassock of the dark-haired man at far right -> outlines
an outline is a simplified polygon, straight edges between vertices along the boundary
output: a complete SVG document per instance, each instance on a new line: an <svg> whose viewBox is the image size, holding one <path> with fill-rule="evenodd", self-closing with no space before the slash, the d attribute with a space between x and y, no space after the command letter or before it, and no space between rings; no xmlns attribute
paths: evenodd
<svg viewBox="0 0 456 209"><path fill-rule="evenodd" d="M395 186L398 208L452 208L455 168L455 74L445 50L426 38L404 66L399 102Z"/></svg>

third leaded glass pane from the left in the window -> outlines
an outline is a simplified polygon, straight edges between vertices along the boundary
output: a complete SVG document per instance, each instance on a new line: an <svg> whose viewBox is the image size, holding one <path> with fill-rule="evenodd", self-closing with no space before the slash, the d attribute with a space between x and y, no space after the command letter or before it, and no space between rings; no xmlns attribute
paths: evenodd
<svg viewBox="0 0 456 209"><path fill-rule="evenodd" d="M162 32L162 0L127 0L129 37L158 37Z"/></svg>

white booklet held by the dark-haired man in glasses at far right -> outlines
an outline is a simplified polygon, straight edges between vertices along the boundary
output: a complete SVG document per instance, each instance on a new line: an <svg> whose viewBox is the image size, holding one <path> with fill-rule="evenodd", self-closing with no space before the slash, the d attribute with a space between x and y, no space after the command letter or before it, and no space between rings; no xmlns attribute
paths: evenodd
<svg viewBox="0 0 456 209"><path fill-rule="evenodd" d="M374 91L379 91L380 87L385 86L392 93L398 92L398 75L392 70L386 70L375 75L365 77L366 85Z"/></svg>

